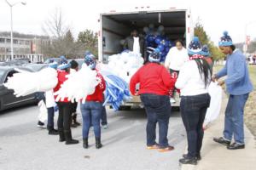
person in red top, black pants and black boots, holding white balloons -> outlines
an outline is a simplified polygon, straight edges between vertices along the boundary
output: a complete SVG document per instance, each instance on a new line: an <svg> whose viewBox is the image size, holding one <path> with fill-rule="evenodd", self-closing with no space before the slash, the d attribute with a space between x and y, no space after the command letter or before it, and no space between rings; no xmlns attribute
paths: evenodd
<svg viewBox="0 0 256 170"><path fill-rule="evenodd" d="M61 65L58 66L58 83L54 88L54 92L57 92L63 82L67 80L67 75L69 74L70 63L67 62L66 59L62 59ZM55 95L55 99L56 99ZM66 141L66 144L78 144L79 140L72 139L71 134L71 121L72 121L72 111L73 111L73 104L68 101L67 98L60 100L57 102L59 107L59 117L58 117L58 131L60 135L60 142Z"/></svg>

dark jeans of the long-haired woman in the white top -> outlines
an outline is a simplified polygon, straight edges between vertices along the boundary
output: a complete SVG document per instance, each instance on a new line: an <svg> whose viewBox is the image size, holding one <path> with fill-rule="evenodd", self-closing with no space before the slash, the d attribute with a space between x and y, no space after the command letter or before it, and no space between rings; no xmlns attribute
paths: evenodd
<svg viewBox="0 0 256 170"><path fill-rule="evenodd" d="M181 115L188 138L188 156L200 154L204 131L202 128L207 108L210 105L209 94L181 97Z"/></svg>

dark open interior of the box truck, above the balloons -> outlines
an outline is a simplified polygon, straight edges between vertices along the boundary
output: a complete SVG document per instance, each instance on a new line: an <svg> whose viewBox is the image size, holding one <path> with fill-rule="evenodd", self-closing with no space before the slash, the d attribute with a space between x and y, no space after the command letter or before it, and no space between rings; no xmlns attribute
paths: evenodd
<svg viewBox="0 0 256 170"><path fill-rule="evenodd" d="M180 38L186 42L186 17L186 10L102 14L99 55L102 55L102 61L106 63L109 55L122 51L120 41L128 37L133 29L145 35L143 27L149 24L154 24L155 28L164 26L166 36L172 41Z"/></svg>

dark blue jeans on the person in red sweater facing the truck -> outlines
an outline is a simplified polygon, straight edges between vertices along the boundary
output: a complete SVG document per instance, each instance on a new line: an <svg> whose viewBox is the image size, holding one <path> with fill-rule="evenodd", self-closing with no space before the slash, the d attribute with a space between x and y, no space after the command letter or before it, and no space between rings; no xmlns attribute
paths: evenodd
<svg viewBox="0 0 256 170"><path fill-rule="evenodd" d="M147 123L147 145L151 146L155 142L155 127L159 124L159 144L160 148L168 146L168 126L171 115L171 103L169 96L157 94L141 94L141 100L145 107L148 123Z"/></svg>

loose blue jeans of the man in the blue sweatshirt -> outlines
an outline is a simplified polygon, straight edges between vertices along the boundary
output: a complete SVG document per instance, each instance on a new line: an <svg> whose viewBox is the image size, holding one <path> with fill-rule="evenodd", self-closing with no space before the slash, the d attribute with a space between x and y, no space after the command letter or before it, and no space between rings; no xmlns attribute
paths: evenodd
<svg viewBox="0 0 256 170"><path fill-rule="evenodd" d="M243 110L249 94L231 95L225 111L224 138L244 144Z"/></svg>

